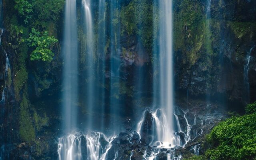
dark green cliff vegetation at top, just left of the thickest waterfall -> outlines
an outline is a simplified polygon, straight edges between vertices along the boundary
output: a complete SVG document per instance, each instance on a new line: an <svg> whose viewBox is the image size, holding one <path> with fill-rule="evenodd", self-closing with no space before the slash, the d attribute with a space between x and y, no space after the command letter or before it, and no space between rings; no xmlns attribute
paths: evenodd
<svg viewBox="0 0 256 160"><path fill-rule="evenodd" d="M122 34L125 32L128 36L138 35L148 50L152 49L156 36L156 26L153 22L158 20L158 16L154 16L154 10L157 9L152 1L132 0L122 7L120 12Z"/></svg>

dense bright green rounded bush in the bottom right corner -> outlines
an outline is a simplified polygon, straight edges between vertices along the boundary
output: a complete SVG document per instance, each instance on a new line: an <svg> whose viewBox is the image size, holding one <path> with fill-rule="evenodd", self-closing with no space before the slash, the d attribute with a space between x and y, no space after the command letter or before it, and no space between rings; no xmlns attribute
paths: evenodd
<svg viewBox="0 0 256 160"><path fill-rule="evenodd" d="M256 113L227 119L214 127L207 140L212 145L206 151L210 160L255 160Z"/></svg>

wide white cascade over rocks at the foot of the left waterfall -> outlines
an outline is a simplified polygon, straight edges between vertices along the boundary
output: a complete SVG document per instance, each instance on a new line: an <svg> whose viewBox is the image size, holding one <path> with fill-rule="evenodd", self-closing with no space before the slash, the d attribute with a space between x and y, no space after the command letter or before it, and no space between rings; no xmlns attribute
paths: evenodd
<svg viewBox="0 0 256 160"><path fill-rule="evenodd" d="M106 140L108 144L104 147L100 139ZM106 138L100 132L90 134L70 134L58 139L59 160L106 160L108 150L112 147L112 138ZM87 148L86 150L84 148ZM84 149L84 150L83 150ZM83 157L85 155L86 157Z"/></svg>

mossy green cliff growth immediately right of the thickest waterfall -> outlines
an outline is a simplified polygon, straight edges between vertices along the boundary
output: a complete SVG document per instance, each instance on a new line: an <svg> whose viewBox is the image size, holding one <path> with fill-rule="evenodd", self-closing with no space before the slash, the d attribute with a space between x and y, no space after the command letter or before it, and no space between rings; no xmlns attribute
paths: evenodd
<svg viewBox="0 0 256 160"><path fill-rule="evenodd" d="M186 54L184 63L194 65L200 58L200 50L205 42L204 13L196 1L178 0L174 11L174 50ZM210 36L207 32L208 37ZM209 44L209 42L208 42ZM186 46L186 47L184 47ZM206 45L207 46L207 45Z"/></svg>

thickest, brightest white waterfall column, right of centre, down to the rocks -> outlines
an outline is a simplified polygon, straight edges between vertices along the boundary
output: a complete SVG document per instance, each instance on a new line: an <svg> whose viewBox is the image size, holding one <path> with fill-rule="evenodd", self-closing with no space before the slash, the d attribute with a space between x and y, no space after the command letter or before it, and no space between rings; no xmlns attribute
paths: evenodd
<svg viewBox="0 0 256 160"><path fill-rule="evenodd" d="M173 53L172 53L172 0L158 0L161 11L159 22L158 44L155 47L154 58L158 58L159 66L154 64L154 72L159 71L159 86L154 82L154 106L162 108L161 120L163 128L157 132L158 141L164 142L167 146L174 146L173 142ZM155 13L158 14L158 13ZM156 24L155 24L156 25ZM159 52L159 53L158 53ZM160 90L158 90L160 88ZM160 102L158 101L160 99ZM156 118L156 117L155 117Z"/></svg>

